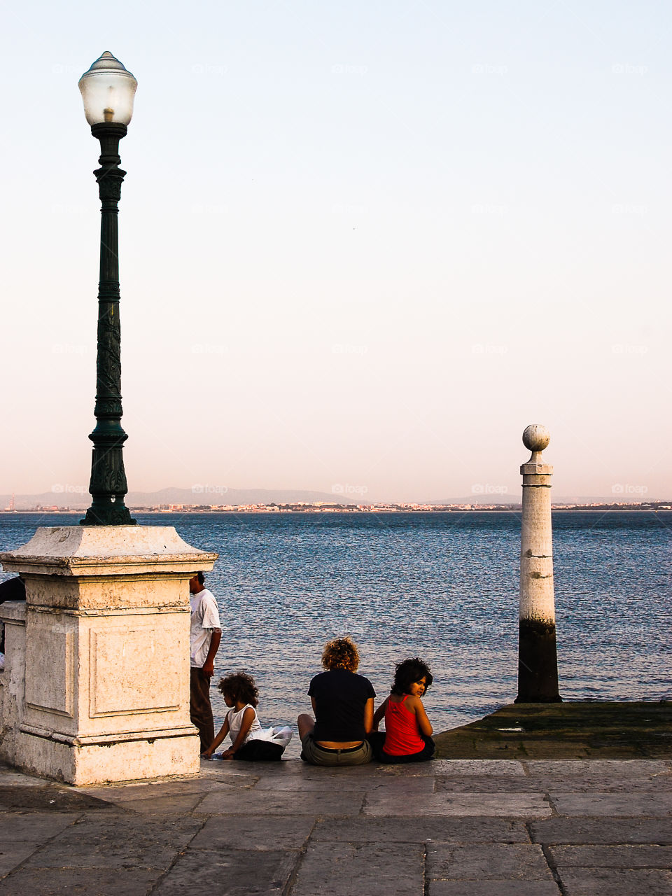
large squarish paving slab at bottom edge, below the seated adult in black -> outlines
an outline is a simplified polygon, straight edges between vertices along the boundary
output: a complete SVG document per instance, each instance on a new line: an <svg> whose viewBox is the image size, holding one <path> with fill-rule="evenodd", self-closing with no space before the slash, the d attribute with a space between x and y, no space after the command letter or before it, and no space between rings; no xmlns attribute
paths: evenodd
<svg viewBox="0 0 672 896"><path fill-rule="evenodd" d="M400 853L389 843L312 843L291 896L422 896L423 866L419 845Z"/></svg>

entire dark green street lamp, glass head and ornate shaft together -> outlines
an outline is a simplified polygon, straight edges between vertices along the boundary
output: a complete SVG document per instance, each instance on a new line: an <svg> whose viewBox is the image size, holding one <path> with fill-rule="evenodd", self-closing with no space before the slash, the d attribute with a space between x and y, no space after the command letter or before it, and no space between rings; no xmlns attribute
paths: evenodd
<svg viewBox="0 0 672 896"><path fill-rule="evenodd" d="M79 82L84 115L100 142L96 176L100 195L100 280L98 356L96 358L96 426L89 510L83 526L130 526L135 520L124 504L128 491L121 426L121 328L119 325L118 206L125 171L119 168L119 141L133 116L138 82L111 53L105 52Z"/></svg>

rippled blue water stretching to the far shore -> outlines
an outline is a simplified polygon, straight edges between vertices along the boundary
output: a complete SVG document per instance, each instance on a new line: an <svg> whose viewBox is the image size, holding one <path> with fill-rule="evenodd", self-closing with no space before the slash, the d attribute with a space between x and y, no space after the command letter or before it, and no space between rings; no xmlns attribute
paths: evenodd
<svg viewBox="0 0 672 896"><path fill-rule="evenodd" d="M80 516L0 514L0 547ZM175 526L187 543L220 553L208 576L224 630L216 671L254 674L263 724L292 723L308 709L323 643L341 633L358 642L360 671L381 696L395 661L426 659L436 730L515 698L515 513L173 513L138 521ZM672 697L671 530L672 513L554 514L566 699ZM223 702L212 694L220 716Z"/></svg>

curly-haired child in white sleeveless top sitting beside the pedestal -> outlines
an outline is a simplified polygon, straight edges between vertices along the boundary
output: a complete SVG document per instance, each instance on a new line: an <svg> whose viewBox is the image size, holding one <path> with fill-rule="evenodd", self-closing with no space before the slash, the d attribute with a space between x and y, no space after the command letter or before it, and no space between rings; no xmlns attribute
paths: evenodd
<svg viewBox="0 0 672 896"><path fill-rule="evenodd" d="M231 745L218 754L218 759L245 759L252 761L279 760L292 737L290 728L262 728L256 707L259 692L254 678L245 672L237 672L220 679L220 691L230 709L220 733L203 753L205 759L212 754L229 735Z"/></svg>

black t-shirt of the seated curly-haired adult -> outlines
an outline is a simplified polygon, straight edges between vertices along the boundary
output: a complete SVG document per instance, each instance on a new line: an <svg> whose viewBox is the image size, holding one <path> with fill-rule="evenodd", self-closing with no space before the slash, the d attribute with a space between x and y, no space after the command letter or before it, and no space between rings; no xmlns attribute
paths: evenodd
<svg viewBox="0 0 672 896"><path fill-rule="evenodd" d="M370 697L375 697L368 678L345 669L330 669L314 676L308 696L315 702L314 740L364 740L364 707Z"/></svg>

